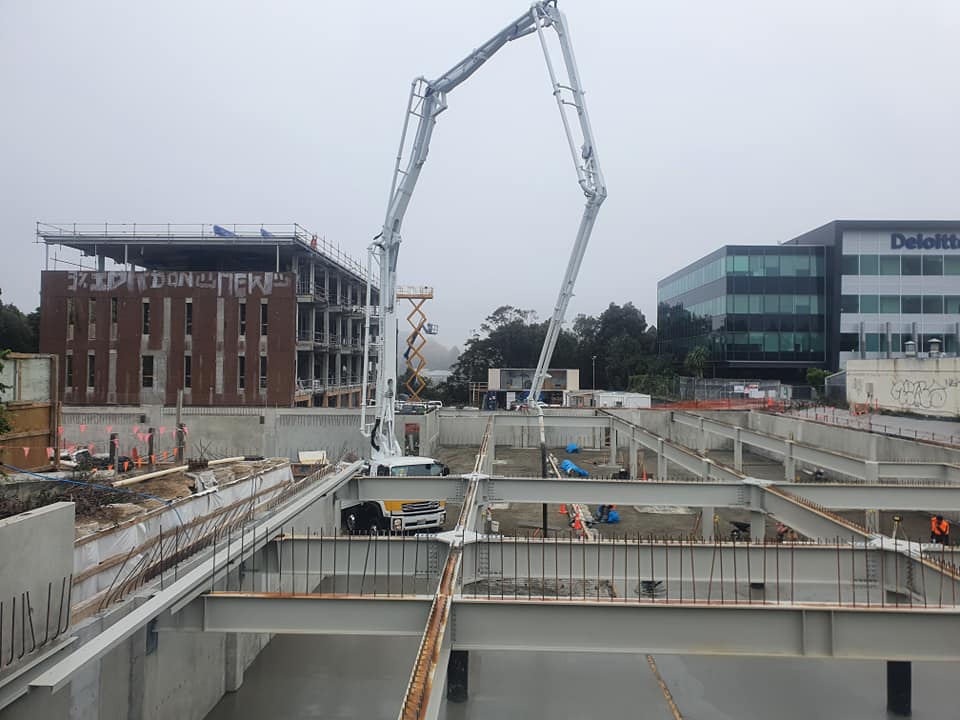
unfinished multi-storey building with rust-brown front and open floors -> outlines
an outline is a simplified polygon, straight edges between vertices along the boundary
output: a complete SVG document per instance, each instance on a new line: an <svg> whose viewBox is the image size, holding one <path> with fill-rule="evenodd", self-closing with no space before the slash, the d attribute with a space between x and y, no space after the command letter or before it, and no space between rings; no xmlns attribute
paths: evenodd
<svg viewBox="0 0 960 720"><path fill-rule="evenodd" d="M38 223L37 238L64 402L360 404L366 270L300 225ZM63 247L91 267L56 269Z"/></svg>

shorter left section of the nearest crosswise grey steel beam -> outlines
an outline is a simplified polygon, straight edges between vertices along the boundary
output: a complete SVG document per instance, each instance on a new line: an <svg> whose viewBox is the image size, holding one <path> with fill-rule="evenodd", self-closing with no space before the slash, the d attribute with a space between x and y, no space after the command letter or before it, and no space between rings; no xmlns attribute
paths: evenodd
<svg viewBox="0 0 960 720"><path fill-rule="evenodd" d="M433 597L212 593L202 600L206 632L420 637Z"/></svg>

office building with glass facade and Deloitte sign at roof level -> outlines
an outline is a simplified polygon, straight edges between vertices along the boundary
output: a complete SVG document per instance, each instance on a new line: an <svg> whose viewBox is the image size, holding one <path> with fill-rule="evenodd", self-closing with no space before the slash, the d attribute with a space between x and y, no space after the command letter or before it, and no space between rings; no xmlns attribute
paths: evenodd
<svg viewBox="0 0 960 720"><path fill-rule="evenodd" d="M834 221L780 245L728 245L657 286L658 346L718 377L801 379L913 339L958 351L960 221Z"/></svg>

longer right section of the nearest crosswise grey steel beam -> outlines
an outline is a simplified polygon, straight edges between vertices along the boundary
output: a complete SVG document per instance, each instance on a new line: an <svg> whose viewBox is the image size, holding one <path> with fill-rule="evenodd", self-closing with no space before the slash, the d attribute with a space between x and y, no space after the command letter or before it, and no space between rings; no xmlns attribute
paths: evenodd
<svg viewBox="0 0 960 720"><path fill-rule="evenodd" d="M460 600L456 650L960 660L960 613L668 603Z"/></svg>

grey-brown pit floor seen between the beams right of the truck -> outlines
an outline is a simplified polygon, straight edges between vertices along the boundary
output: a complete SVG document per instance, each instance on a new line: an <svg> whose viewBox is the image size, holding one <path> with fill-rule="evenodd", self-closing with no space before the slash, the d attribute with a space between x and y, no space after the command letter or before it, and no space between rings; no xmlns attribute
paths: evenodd
<svg viewBox="0 0 960 720"><path fill-rule="evenodd" d="M563 448L552 448L550 452L557 458L558 463L564 459L569 459L571 462L589 472L591 477L611 477L620 469L618 465L607 464L609 460L608 450L581 450L578 453L569 454ZM475 447L440 448L437 452L437 459L447 463L452 473L466 473L473 470L476 453L477 448ZM733 463L732 452L713 452L710 454L710 457L718 462ZM781 463L753 455L749 452L744 452L743 462L744 472L748 475L767 480L783 479L783 465ZM496 448L494 473L504 476L539 477L540 451L535 448ZM505 535L523 536L532 534L535 530L542 528L542 508L543 506L541 504L512 504L506 509L493 510L493 519L500 523L500 531ZM594 512L596 511L596 507L591 507L590 509ZM595 529L600 532L602 537L614 538L623 537L624 535L636 537L638 533L642 537L687 537L698 532L700 523L700 508L697 507L644 508L618 506L617 511L620 513L619 523L595 526ZM863 510L849 510L838 512L837 514L861 525L864 523L865 513ZM888 536L893 534L893 517L895 514L899 514L903 518L900 537L906 537L911 540L922 540L923 542L929 541L930 517L926 513L882 512L880 513L881 533ZM459 506L448 504L447 529L456 525L458 515ZM732 522L750 522L750 512L748 510L717 508L716 515L718 516L716 527L721 538L729 538L730 531L733 529ZM560 514L559 505L547 505L547 526L551 536L554 534L566 536L573 533L568 516ZM777 521L767 516L767 539L775 540L776 534Z"/></svg>

